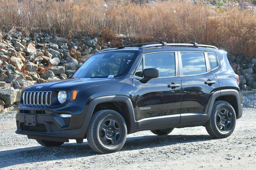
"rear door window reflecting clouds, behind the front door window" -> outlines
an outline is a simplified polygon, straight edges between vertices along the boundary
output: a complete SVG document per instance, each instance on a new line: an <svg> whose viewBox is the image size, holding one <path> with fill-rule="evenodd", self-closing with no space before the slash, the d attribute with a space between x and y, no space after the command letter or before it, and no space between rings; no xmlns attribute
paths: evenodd
<svg viewBox="0 0 256 170"><path fill-rule="evenodd" d="M206 73L204 53L180 52L183 75L196 75Z"/></svg>

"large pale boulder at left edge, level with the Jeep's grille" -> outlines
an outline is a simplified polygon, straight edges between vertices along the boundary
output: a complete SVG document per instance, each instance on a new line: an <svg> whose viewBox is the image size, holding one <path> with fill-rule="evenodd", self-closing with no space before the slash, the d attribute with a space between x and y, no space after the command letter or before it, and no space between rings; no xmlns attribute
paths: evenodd
<svg viewBox="0 0 256 170"><path fill-rule="evenodd" d="M20 89L14 89L13 87L0 87L0 99L4 101L6 105L12 105L15 102L20 101L20 97Z"/></svg>

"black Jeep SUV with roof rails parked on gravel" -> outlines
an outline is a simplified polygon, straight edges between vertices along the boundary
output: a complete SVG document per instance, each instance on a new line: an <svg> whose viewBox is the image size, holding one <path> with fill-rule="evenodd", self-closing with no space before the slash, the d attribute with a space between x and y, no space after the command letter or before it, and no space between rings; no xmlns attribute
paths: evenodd
<svg viewBox="0 0 256 170"><path fill-rule="evenodd" d="M242 116L238 75L226 54L197 43L104 49L69 79L24 88L16 133L43 146L87 138L100 153L120 150L127 134L142 130L167 135L204 126L226 138Z"/></svg>

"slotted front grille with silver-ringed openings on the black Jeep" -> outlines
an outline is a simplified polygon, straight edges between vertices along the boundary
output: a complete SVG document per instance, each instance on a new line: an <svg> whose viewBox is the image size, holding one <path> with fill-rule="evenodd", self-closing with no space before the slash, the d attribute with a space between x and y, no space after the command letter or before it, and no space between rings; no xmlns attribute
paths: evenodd
<svg viewBox="0 0 256 170"><path fill-rule="evenodd" d="M24 91L22 94L24 105L51 105L51 91Z"/></svg>

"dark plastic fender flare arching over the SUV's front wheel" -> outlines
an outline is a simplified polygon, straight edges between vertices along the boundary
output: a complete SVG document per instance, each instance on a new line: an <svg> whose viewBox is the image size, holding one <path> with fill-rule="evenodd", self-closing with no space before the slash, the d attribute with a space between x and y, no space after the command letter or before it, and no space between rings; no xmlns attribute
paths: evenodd
<svg viewBox="0 0 256 170"><path fill-rule="evenodd" d="M136 129L137 128L137 121L135 120L135 113L132 105L132 101L128 96L125 95L110 95L110 96L102 96L102 97L96 97L90 101L88 105L88 109L86 111L86 115L84 117L84 122L82 124L82 128L85 130L84 131L84 136L86 134L86 130L89 127L90 120L92 117L92 113L96 107L96 105L100 103L105 103L105 102L124 102L128 108L128 117L130 118L130 130ZM128 131L128 134L129 134Z"/></svg>

